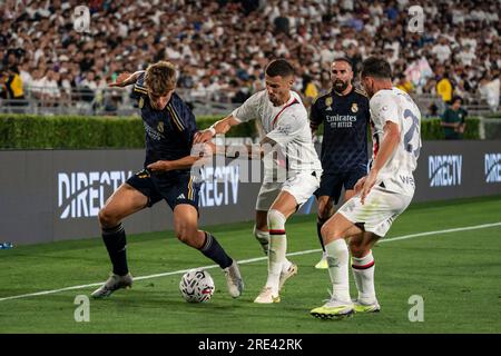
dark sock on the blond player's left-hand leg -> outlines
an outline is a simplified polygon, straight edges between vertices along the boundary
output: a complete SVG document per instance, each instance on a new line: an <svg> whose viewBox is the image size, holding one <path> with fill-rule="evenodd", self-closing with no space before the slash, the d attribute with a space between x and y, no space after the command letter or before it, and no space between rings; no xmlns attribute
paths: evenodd
<svg viewBox="0 0 501 356"><path fill-rule="evenodd" d="M102 240L114 265L114 274L125 276L129 273L127 267L127 239L121 224L102 229Z"/></svg>

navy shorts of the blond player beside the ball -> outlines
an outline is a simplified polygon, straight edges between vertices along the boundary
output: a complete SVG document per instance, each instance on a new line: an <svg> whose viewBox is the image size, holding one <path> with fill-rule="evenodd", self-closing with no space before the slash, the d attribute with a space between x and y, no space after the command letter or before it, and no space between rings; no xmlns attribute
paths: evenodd
<svg viewBox="0 0 501 356"><path fill-rule="evenodd" d="M194 179L189 171L166 176L144 169L127 179L127 184L148 198L148 207L165 199L173 210L179 204L189 204L198 210L200 184Z"/></svg>

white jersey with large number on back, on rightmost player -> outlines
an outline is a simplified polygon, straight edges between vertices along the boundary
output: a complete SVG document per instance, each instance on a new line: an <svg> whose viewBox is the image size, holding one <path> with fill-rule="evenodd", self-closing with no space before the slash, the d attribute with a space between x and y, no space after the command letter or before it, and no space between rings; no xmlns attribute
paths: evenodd
<svg viewBox="0 0 501 356"><path fill-rule="evenodd" d="M379 181L389 190L407 196L414 195L413 171L418 166L421 149L421 112L404 91L392 88L377 91L370 101L373 129L373 160L383 141L386 121L399 125L400 142L379 174Z"/></svg>

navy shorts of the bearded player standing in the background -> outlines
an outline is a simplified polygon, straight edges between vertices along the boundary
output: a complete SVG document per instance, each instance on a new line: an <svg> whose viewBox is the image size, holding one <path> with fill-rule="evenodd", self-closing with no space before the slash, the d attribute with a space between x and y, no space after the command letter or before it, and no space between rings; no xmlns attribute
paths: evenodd
<svg viewBox="0 0 501 356"><path fill-rule="evenodd" d="M334 204L340 201L341 191L352 190L360 178L367 175L367 170L363 168L356 168L344 172L325 171L322 175L321 186L315 191L315 196L327 196L334 200Z"/></svg>

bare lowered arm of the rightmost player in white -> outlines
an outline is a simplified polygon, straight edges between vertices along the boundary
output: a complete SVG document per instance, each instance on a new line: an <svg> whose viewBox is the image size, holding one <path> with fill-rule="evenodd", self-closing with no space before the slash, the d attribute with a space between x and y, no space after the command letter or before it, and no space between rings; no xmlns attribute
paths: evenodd
<svg viewBox="0 0 501 356"><path fill-rule="evenodd" d="M377 180L377 174L380 172L381 168L384 167L400 142L400 128L397 123L393 121L386 121L383 131L383 141L380 145L377 156L374 159L371 171L369 172L362 186L360 196L362 204L365 202L365 197L369 195L372 187L374 187L374 184Z"/></svg>

